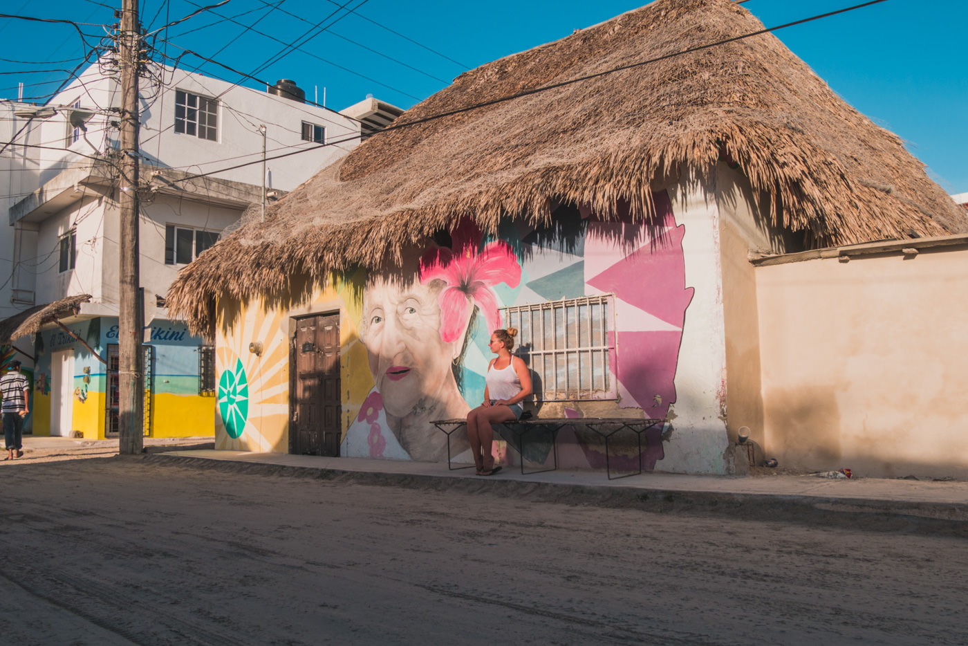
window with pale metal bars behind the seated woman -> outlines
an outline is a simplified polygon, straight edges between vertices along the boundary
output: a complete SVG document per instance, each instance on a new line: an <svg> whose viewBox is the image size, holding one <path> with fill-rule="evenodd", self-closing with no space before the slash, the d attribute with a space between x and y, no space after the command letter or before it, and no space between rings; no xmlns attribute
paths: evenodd
<svg viewBox="0 0 968 646"><path fill-rule="evenodd" d="M531 369L535 401L615 399L612 294L515 305L501 310L518 328L514 354Z"/></svg>

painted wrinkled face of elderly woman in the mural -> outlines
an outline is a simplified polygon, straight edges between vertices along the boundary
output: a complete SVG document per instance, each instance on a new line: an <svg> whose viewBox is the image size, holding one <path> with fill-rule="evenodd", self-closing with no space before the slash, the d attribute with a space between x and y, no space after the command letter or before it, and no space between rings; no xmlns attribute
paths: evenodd
<svg viewBox="0 0 968 646"><path fill-rule="evenodd" d="M422 398L439 398L453 385L451 363L464 337L450 343L440 338L442 287L440 281L399 285L379 277L367 287L362 340L389 415L410 415Z"/></svg>

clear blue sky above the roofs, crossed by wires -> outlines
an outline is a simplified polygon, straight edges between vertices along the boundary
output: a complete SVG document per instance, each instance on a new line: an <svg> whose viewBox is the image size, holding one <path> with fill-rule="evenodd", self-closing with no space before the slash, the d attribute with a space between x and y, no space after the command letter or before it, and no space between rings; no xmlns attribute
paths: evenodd
<svg viewBox="0 0 968 646"><path fill-rule="evenodd" d="M194 5L189 0L143 0L141 19L151 31L215 1L198 0ZM331 108L345 108L368 94L408 108L465 69L560 39L576 28L640 6L634 0L350 0L347 8L358 9L348 13L339 9L345 2L230 0L214 12L170 27L162 35L166 36L169 56L177 55L179 47L193 49L251 74L284 48L255 30L291 43L330 12L336 12L324 22L339 18L326 32L253 76L268 81L293 78L310 99L318 93L321 100L325 87L326 105ZM860 2L748 0L743 6L767 26L773 26ZM3 13L15 15L113 22L110 6L114 3L110 0L48 0L43 4L7 0L4 5ZM234 19L242 25L259 21L255 30L245 31L215 12L237 16ZM968 0L887 0L846 15L784 29L776 36L848 103L903 138L943 189L965 193L966 26ZM97 26L84 29L92 34L104 33ZM158 46L163 48L165 43ZM22 81L26 97L43 100L67 74L27 73L71 69L83 51L76 31L69 25L0 18L0 72L16 73L0 75L0 98L15 99L17 82ZM201 63L191 56L182 62L190 68ZM202 65L200 71L231 81L239 79L211 64ZM248 80L243 84L257 86Z"/></svg>

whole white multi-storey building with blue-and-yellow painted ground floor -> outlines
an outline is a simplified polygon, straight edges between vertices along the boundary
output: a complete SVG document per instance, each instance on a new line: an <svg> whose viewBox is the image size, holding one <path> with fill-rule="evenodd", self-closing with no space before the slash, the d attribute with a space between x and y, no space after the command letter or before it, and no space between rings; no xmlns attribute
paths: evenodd
<svg viewBox="0 0 968 646"><path fill-rule="evenodd" d="M356 146L363 122L304 103L289 80L257 91L157 65L148 76L160 82L142 79L140 91L146 428L161 437L210 434L214 361L201 339L167 320L167 288L247 208L259 217L263 187L266 200L282 197ZM116 432L120 94L102 61L46 106L0 103L0 137L13 141L0 155L0 169L9 170L0 186L9 214L0 320L91 295L63 323L97 353L57 330L15 343L37 357L31 425L41 434Z"/></svg>

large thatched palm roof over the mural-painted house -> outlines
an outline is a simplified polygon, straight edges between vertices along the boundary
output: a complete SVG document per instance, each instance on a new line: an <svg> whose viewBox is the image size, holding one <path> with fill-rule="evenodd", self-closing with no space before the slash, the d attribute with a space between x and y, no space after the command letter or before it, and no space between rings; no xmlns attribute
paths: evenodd
<svg viewBox="0 0 968 646"><path fill-rule="evenodd" d="M731 0L658 0L470 71L393 125L762 28ZM496 231L507 214L544 221L555 202L608 216L627 200L646 218L650 188L722 153L807 246L966 230L899 138L763 34L379 133L186 267L169 308L206 329L216 295L399 259L462 216Z"/></svg>

